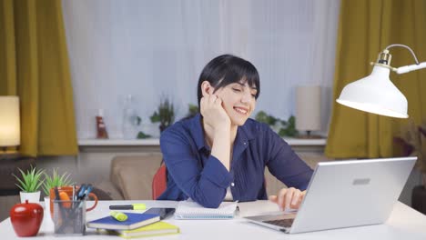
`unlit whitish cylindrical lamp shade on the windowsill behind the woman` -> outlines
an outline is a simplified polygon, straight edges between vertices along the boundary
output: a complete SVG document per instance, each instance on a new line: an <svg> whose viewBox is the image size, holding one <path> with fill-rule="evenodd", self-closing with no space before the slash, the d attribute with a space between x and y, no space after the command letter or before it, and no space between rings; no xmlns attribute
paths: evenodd
<svg viewBox="0 0 426 240"><path fill-rule="evenodd" d="M296 89L296 129L320 130L320 86L304 85Z"/></svg>

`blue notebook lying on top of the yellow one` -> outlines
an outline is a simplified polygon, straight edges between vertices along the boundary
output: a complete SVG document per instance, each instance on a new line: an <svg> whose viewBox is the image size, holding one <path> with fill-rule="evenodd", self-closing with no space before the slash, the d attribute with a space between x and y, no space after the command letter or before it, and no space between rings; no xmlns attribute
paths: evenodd
<svg viewBox="0 0 426 240"><path fill-rule="evenodd" d="M131 230L160 220L159 215L126 213L127 220L120 222L111 215L88 222L87 227L112 230Z"/></svg>

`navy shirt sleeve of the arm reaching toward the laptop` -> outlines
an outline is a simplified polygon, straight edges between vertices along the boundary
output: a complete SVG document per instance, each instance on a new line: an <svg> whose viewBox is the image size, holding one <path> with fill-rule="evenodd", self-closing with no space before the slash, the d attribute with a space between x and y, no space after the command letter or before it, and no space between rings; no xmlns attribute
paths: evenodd
<svg viewBox="0 0 426 240"><path fill-rule="evenodd" d="M303 162L299 155L296 155L291 147L269 126L265 130L265 141L269 172L288 187L306 190L313 174L309 165Z"/></svg>

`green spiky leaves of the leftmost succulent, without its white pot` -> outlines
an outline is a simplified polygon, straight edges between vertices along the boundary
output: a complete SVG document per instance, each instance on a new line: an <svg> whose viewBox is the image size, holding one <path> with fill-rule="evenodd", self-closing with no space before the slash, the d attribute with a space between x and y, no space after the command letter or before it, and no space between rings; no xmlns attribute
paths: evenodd
<svg viewBox="0 0 426 240"><path fill-rule="evenodd" d="M43 185L44 180L41 178L45 170L38 169L35 170L35 167L31 166L31 169L27 170L26 173L22 169L18 168L21 172L21 177L14 175L18 181L17 187L25 193L35 193L38 191L41 185Z"/></svg>

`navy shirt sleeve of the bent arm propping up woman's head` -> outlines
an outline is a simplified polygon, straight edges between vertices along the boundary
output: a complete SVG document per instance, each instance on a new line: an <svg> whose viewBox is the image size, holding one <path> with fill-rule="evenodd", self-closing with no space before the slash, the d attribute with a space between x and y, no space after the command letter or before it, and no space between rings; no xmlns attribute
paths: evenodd
<svg viewBox="0 0 426 240"><path fill-rule="evenodd" d="M160 137L161 152L168 173L177 186L199 205L217 208L232 181L227 168L213 155L204 167L197 147L188 135L167 129Z"/></svg>

